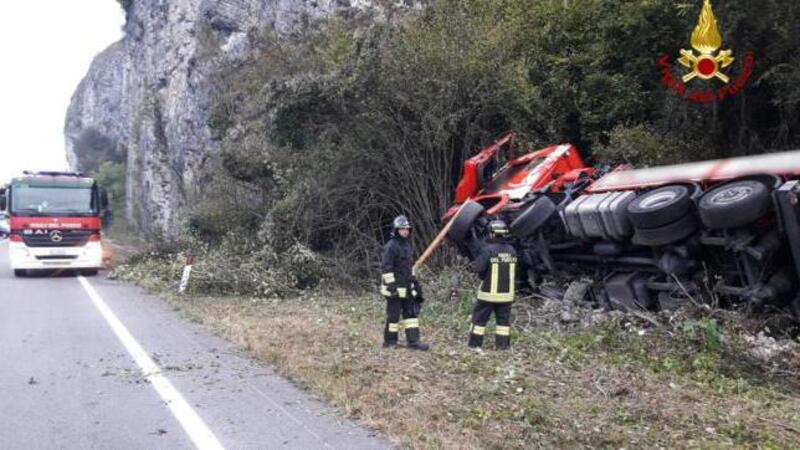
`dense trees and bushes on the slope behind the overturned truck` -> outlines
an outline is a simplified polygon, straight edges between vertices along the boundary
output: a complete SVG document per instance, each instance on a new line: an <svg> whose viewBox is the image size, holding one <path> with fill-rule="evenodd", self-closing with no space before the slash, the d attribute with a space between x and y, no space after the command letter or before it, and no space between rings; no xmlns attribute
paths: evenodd
<svg viewBox="0 0 800 450"><path fill-rule="evenodd" d="M252 217L239 229L372 279L391 218L410 215L421 248L463 160L510 129L534 148L572 142L590 161L646 165L800 145L800 7L715 5L731 73L746 51L759 65L744 92L700 105L663 87L656 63L689 46L695 3L440 0L368 27L335 19L288 41L265 32L213 83L209 123L235 189L200 195L193 227L218 238L244 207L218 197L246 192Z"/></svg>

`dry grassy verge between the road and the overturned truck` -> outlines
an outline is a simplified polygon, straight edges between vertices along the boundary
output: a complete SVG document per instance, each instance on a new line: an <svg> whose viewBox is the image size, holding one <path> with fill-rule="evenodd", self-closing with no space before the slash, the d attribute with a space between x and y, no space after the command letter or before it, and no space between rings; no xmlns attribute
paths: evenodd
<svg viewBox="0 0 800 450"><path fill-rule="evenodd" d="M684 333L519 302L514 348L492 350L490 333L476 352L465 345L469 304L434 302L422 318L433 348L422 353L380 348L383 303L372 296L170 302L402 447L790 448L800 439L800 391L728 364L732 344L697 340L701 322Z"/></svg>

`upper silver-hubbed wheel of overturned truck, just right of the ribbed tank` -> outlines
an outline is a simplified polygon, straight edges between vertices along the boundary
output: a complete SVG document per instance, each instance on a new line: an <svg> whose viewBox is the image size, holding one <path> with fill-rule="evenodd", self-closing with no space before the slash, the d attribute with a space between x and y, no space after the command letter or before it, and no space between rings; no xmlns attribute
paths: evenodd
<svg viewBox="0 0 800 450"><path fill-rule="evenodd" d="M628 218L634 228L654 229L675 223L692 207L688 186L664 186L636 197L628 205Z"/></svg>

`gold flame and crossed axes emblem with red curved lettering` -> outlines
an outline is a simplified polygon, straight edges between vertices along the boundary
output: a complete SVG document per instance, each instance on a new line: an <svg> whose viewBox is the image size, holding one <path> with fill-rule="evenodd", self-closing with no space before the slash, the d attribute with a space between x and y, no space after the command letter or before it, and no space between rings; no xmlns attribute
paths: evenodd
<svg viewBox="0 0 800 450"><path fill-rule="evenodd" d="M698 103L722 101L745 88L753 74L755 59L751 53L745 53L742 58L741 73L735 80L731 80L731 77L725 73L725 69L728 69L736 61L736 58L733 57L733 50L720 50L722 35L719 32L717 18L714 16L710 0L703 1L700 17L689 42L693 50L681 49L681 56L678 58L678 62L689 69L689 72L685 72L681 78L673 76L673 64L669 55L662 55L658 59L661 83L664 86L678 96ZM715 90L689 91L686 83L696 78L701 80L717 79L725 86Z"/></svg>

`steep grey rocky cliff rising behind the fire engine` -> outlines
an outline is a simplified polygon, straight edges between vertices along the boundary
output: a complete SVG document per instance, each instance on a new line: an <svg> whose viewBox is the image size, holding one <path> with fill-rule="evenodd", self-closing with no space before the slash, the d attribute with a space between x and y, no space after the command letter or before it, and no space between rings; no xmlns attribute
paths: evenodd
<svg viewBox="0 0 800 450"><path fill-rule="evenodd" d="M134 0L124 38L96 57L73 95L68 160L73 168L97 160L87 136L102 138L127 161L128 221L173 235L215 151L207 125L210 77L243 60L264 33L297 37L334 15L379 18L386 13L379 4L391 3Z"/></svg>

